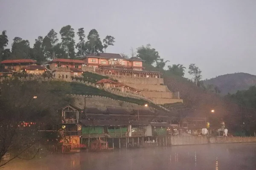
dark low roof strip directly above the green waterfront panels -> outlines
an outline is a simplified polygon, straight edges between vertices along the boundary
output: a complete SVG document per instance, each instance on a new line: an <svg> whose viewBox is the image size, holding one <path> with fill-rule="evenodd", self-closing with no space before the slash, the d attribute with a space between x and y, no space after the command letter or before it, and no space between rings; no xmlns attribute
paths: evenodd
<svg viewBox="0 0 256 170"><path fill-rule="evenodd" d="M85 126L123 126L128 125L128 121L115 121L115 120L80 120L81 124Z"/></svg>

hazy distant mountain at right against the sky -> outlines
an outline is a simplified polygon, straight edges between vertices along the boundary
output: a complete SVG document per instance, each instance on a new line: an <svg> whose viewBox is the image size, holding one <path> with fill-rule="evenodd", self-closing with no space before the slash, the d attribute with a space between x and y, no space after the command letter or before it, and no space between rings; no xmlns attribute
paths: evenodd
<svg viewBox="0 0 256 170"><path fill-rule="evenodd" d="M256 85L256 75L248 73L233 73L227 75L220 75L216 78L203 81L205 86L212 84L221 90L222 95L227 93L236 93L237 90L247 90L250 86Z"/></svg>

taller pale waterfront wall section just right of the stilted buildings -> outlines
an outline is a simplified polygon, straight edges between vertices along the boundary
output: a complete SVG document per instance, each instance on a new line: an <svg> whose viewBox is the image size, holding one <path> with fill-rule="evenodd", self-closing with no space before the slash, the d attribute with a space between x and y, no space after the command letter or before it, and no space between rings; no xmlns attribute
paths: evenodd
<svg viewBox="0 0 256 170"><path fill-rule="evenodd" d="M208 144L206 136L179 136L172 135L167 137L168 145L186 145L186 144Z"/></svg>

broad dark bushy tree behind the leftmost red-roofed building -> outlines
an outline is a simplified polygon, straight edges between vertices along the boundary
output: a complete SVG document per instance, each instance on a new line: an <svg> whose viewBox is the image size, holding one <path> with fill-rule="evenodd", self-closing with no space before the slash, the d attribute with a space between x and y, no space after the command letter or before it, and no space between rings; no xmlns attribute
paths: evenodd
<svg viewBox="0 0 256 170"><path fill-rule="evenodd" d="M12 43L12 58L22 59L30 58L30 46L28 40L23 40L20 37L15 37Z"/></svg>

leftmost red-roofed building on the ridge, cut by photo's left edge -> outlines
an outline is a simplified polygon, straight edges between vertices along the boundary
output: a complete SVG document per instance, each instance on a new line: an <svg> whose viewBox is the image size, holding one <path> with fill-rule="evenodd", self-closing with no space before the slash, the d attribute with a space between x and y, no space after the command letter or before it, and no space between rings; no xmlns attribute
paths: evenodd
<svg viewBox="0 0 256 170"><path fill-rule="evenodd" d="M21 60L4 60L0 63L4 69L10 69L19 71L28 66L39 65L37 61L32 59L21 59Z"/></svg>

